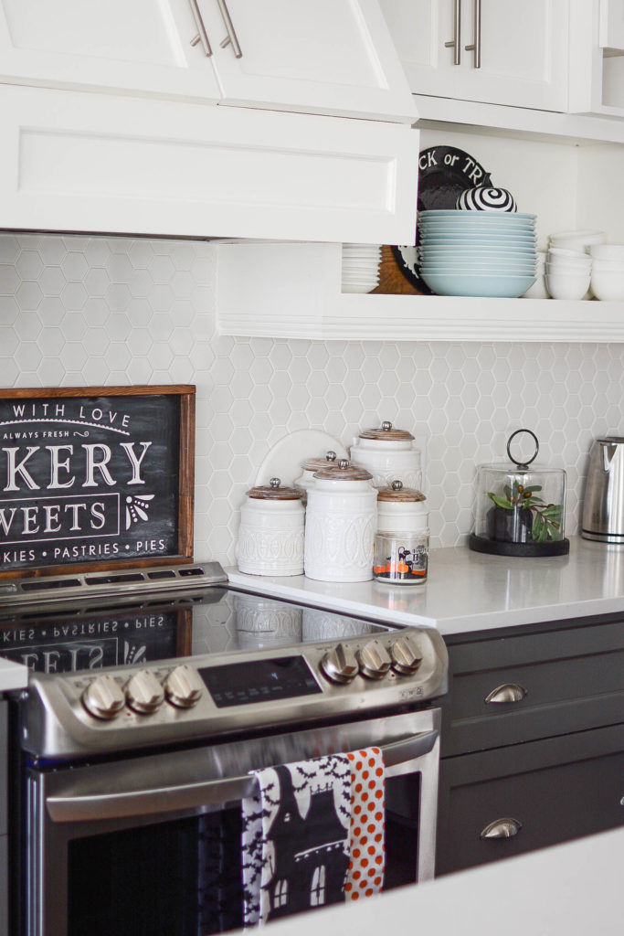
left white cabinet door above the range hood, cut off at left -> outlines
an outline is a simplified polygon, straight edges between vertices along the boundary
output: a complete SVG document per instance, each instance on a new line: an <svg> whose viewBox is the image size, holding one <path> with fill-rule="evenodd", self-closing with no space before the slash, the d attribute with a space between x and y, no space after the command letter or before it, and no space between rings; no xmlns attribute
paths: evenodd
<svg viewBox="0 0 624 936"><path fill-rule="evenodd" d="M219 98L188 0L0 0L0 80Z"/></svg>

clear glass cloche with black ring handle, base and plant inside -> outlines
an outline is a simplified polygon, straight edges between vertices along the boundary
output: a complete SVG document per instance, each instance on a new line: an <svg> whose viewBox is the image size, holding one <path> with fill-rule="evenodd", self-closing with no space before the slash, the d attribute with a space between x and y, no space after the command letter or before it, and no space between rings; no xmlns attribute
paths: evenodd
<svg viewBox="0 0 624 936"><path fill-rule="evenodd" d="M530 436L530 452L522 452ZM518 458L512 454L512 443ZM534 432L519 429L507 441L511 464L480 465L477 472L471 549L502 556L561 556L570 551L564 536L566 475L562 468L533 464L539 451ZM528 457L530 456L530 457Z"/></svg>

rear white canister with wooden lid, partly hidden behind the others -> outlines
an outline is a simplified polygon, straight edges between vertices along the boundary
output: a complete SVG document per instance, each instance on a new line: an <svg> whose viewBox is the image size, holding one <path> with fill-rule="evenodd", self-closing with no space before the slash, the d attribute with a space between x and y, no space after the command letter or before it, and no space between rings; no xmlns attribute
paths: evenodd
<svg viewBox="0 0 624 936"><path fill-rule="evenodd" d="M351 461L370 471L374 488L387 488L396 478L406 488L418 489L422 484L420 449L414 446L414 436L394 429L391 422L360 432L351 446Z"/></svg>

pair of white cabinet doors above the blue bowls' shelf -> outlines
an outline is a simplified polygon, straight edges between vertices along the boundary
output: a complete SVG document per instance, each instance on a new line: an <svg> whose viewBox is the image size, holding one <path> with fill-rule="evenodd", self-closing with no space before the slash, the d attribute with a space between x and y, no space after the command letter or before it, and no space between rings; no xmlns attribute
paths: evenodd
<svg viewBox="0 0 624 936"><path fill-rule="evenodd" d="M567 110L568 0L381 3L414 94Z"/></svg>

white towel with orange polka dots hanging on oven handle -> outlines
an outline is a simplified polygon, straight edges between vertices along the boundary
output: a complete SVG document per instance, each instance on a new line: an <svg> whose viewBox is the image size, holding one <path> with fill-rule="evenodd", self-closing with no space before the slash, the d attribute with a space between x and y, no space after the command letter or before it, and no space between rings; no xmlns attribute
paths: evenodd
<svg viewBox="0 0 624 936"><path fill-rule="evenodd" d="M385 872L385 764L379 748L349 753L351 819L347 900L378 894Z"/></svg>

